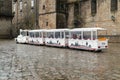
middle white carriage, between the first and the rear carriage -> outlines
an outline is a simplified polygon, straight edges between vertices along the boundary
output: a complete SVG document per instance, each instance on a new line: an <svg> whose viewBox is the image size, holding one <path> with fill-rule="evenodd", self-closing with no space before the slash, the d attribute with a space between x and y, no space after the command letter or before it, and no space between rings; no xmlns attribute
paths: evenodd
<svg viewBox="0 0 120 80"><path fill-rule="evenodd" d="M46 31L45 45L66 47L69 29L50 29Z"/></svg>

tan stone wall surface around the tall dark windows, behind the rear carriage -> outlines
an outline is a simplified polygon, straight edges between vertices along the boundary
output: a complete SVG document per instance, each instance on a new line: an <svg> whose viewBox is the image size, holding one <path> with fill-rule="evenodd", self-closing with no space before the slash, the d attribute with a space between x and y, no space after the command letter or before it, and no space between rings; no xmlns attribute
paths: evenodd
<svg viewBox="0 0 120 80"><path fill-rule="evenodd" d="M68 0L68 27L74 27L73 21L74 3L76 0ZM79 15L85 22L79 27L102 27L107 29L106 35L120 35L120 1L118 0L118 10L111 12L111 0L97 0L97 13L95 16L91 14L91 0L83 0L79 3ZM112 17L115 21L112 20Z"/></svg>

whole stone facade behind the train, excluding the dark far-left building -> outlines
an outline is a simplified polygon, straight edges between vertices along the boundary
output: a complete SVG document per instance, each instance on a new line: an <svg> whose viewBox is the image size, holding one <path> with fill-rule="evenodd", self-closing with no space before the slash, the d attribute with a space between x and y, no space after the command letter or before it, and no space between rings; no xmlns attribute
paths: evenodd
<svg viewBox="0 0 120 80"><path fill-rule="evenodd" d="M102 27L120 35L119 0L14 0L13 12L15 28Z"/></svg>

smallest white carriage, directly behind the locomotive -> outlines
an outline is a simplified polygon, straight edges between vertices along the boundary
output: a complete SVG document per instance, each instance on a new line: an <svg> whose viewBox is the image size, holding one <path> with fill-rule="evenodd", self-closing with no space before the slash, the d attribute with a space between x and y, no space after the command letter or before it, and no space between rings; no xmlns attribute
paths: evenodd
<svg viewBox="0 0 120 80"><path fill-rule="evenodd" d="M45 43L45 29L29 31L29 44L43 45L44 43Z"/></svg>

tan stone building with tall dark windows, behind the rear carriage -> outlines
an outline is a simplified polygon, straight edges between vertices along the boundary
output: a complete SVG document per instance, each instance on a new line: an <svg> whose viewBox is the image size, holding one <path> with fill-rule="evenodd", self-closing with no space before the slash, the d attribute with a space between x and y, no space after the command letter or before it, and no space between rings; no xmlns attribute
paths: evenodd
<svg viewBox="0 0 120 80"><path fill-rule="evenodd" d="M120 35L120 0L68 0L69 28L103 27Z"/></svg>

